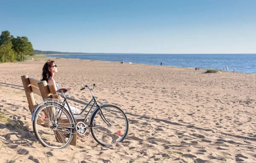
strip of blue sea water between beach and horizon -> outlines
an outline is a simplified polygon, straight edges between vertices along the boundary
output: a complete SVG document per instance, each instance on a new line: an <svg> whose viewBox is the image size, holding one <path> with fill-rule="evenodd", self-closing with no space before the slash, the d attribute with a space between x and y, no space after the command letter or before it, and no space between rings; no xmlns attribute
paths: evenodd
<svg viewBox="0 0 256 163"><path fill-rule="evenodd" d="M241 73L256 73L256 54L74 54L74 55L47 55L51 57L75 58L121 62L132 62L145 65L199 67L203 69L217 68Z"/></svg>

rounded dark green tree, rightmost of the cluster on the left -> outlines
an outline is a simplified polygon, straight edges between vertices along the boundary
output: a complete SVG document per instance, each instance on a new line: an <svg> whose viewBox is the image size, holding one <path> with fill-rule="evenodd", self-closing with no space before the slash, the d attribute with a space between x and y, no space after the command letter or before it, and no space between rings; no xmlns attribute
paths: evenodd
<svg viewBox="0 0 256 163"><path fill-rule="evenodd" d="M24 61L25 55L29 55L32 51L34 51L33 46L27 37L18 36L17 38L12 39L12 44L13 49L17 53L20 61Z"/></svg>

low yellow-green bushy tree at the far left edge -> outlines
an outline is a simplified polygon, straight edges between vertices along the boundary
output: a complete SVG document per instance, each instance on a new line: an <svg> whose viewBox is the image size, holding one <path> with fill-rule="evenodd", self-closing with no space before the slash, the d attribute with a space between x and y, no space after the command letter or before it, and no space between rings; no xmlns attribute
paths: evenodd
<svg viewBox="0 0 256 163"><path fill-rule="evenodd" d="M12 49L12 42L6 41L0 46L0 62L15 62L17 54Z"/></svg>

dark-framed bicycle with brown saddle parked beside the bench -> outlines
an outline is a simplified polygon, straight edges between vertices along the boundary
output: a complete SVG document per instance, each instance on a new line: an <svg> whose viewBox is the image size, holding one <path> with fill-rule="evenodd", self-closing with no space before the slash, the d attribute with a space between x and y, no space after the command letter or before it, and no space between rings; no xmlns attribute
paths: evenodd
<svg viewBox="0 0 256 163"><path fill-rule="evenodd" d="M70 88L60 89L58 94L63 97L60 99L47 98L39 104L33 114L33 130L37 140L44 146L51 149L66 148L72 141L75 131L79 135L85 135L88 129L96 142L102 146L109 146L122 142L128 133L128 119L119 107L113 104L99 105L93 95L93 88L85 85L92 94L92 100L80 113L72 113L66 95L70 94ZM83 121L76 121L74 115L81 115L91 104L90 110ZM67 107L65 107L67 104ZM85 123L89 113L96 105L96 109L90 115L90 119Z"/></svg>

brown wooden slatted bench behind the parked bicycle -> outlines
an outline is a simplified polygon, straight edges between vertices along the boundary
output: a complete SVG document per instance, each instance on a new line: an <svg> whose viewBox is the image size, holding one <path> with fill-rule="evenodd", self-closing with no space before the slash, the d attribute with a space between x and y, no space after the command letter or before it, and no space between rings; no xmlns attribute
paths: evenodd
<svg viewBox="0 0 256 163"><path fill-rule="evenodd" d="M24 91L26 93L26 98L29 103L29 111L31 112L31 114L34 112L35 107L38 106L38 104L35 102L34 94L41 96L43 100L44 98L58 99L55 88L52 84L48 84L46 81L40 81L37 79L30 78L27 75L21 76L21 80L23 83ZM75 118L76 118L76 121L84 120L84 118L81 116L78 116ZM77 145L76 131L74 131L73 139L70 144L74 146Z"/></svg>

